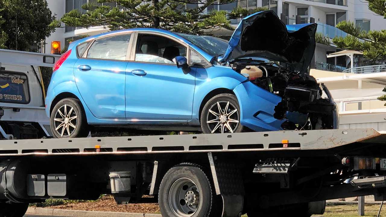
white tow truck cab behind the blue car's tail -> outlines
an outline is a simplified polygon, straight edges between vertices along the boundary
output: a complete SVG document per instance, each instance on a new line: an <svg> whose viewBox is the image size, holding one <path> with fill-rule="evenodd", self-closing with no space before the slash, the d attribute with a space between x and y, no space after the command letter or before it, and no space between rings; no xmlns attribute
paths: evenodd
<svg viewBox="0 0 386 217"><path fill-rule="evenodd" d="M0 49L0 139L51 137L41 67L60 55Z"/></svg>

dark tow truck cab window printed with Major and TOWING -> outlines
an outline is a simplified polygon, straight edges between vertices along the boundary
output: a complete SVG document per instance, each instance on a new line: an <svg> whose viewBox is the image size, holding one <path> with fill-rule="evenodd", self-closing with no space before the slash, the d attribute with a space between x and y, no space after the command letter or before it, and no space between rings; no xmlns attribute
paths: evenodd
<svg viewBox="0 0 386 217"><path fill-rule="evenodd" d="M28 80L25 74L0 72L0 102L29 103Z"/></svg>

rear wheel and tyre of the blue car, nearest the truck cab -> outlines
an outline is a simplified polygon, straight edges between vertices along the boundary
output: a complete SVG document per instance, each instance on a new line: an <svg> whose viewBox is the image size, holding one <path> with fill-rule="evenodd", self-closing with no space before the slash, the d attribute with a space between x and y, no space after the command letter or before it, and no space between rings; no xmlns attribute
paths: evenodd
<svg viewBox="0 0 386 217"><path fill-rule="evenodd" d="M54 138L86 137L90 132L81 102L75 98L64 98L56 103L50 125Z"/></svg>

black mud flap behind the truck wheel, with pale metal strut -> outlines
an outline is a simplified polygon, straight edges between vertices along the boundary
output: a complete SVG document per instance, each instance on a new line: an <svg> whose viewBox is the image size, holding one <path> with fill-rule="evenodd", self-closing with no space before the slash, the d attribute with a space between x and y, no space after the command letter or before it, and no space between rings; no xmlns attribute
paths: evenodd
<svg viewBox="0 0 386 217"><path fill-rule="evenodd" d="M222 217L240 217L244 205L244 183L235 163L218 160L208 153L216 194L223 200Z"/></svg>

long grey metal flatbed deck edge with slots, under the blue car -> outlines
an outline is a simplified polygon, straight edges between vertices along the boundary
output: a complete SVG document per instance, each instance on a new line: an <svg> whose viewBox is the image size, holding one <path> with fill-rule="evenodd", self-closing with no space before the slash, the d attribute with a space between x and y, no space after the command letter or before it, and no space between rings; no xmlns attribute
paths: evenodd
<svg viewBox="0 0 386 217"><path fill-rule="evenodd" d="M374 129L23 139L1 141L0 156L318 150L384 139L386 135ZM288 146L281 145L283 140L288 141Z"/></svg>

